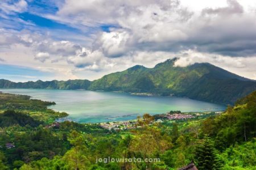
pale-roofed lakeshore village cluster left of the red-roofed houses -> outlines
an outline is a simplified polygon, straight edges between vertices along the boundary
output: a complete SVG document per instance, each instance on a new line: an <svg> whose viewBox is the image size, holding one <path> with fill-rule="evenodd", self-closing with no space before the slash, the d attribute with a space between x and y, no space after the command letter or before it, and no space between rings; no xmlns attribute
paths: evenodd
<svg viewBox="0 0 256 170"><path fill-rule="evenodd" d="M109 130L125 130L125 129L134 129L135 121L126 121L126 122L104 122L100 126L104 129Z"/></svg>

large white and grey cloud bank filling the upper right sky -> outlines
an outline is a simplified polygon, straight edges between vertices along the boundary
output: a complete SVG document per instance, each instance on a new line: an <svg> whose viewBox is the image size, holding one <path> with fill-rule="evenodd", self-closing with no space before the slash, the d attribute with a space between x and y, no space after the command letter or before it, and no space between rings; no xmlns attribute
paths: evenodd
<svg viewBox="0 0 256 170"><path fill-rule="evenodd" d="M75 25L118 25L110 32L100 33L94 42L107 57L121 57L136 50L197 49L228 56L256 54L255 14L245 11L236 0L228 0L226 7L204 8L199 15L177 0L68 0L56 16Z"/></svg>

